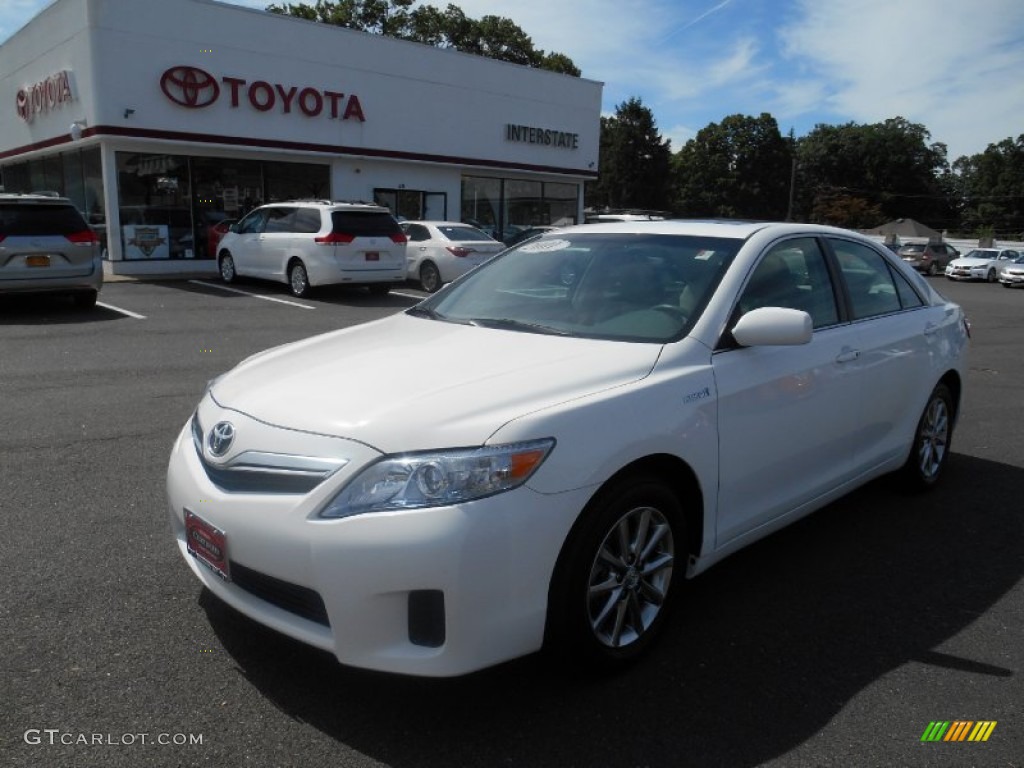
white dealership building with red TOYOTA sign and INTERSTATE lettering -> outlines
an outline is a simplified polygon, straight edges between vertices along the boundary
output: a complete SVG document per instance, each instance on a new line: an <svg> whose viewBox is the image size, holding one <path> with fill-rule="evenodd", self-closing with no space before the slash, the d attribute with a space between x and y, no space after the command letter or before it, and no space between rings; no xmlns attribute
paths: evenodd
<svg viewBox="0 0 1024 768"><path fill-rule="evenodd" d="M282 200L501 239L582 220L601 87L212 0L55 0L0 45L0 181L71 198L113 273L212 272Z"/></svg>

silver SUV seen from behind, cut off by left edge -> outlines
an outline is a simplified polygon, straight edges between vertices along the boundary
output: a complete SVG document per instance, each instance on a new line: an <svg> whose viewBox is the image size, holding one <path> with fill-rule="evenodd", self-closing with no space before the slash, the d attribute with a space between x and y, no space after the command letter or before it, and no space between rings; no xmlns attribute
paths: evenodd
<svg viewBox="0 0 1024 768"><path fill-rule="evenodd" d="M0 194L0 293L63 293L96 304L99 238L67 198Z"/></svg>

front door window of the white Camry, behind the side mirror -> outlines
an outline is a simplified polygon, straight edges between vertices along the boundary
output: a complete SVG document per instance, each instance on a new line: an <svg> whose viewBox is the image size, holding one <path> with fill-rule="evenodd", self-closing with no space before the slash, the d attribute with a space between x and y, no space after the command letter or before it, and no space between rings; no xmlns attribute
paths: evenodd
<svg viewBox="0 0 1024 768"><path fill-rule="evenodd" d="M801 309L811 315L814 328L839 322L836 292L817 241L787 240L765 253L743 289L739 310L763 306Z"/></svg>

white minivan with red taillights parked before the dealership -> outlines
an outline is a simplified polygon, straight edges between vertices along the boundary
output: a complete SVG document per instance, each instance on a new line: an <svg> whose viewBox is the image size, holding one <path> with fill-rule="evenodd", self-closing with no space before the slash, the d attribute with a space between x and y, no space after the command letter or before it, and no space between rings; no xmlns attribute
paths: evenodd
<svg viewBox="0 0 1024 768"><path fill-rule="evenodd" d="M291 201L261 206L217 246L220 276L285 283L296 296L316 286L366 286L386 294L406 280L407 238L387 208Z"/></svg>

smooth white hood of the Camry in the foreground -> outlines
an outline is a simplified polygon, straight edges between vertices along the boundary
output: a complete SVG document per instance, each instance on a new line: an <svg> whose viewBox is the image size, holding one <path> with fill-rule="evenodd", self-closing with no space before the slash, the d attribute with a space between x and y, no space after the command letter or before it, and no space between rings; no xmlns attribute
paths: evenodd
<svg viewBox="0 0 1024 768"><path fill-rule="evenodd" d="M660 350L398 314L261 352L210 393L259 421L385 454L469 446L516 417L642 379Z"/></svg>

